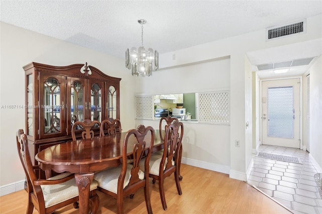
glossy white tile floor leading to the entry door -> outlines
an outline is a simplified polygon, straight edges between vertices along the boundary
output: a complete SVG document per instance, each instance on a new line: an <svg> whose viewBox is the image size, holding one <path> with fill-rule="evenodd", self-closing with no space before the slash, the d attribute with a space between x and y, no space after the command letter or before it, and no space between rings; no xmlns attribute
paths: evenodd
<svg viewBox="0 0 322 214"><path fill-rule="evenodd" d="M285 147L261 145L259 152L297 157L302 164L255 157L248 183L273 197L293 213L322 214L322 199L318 193L308 152Z"/></svg>

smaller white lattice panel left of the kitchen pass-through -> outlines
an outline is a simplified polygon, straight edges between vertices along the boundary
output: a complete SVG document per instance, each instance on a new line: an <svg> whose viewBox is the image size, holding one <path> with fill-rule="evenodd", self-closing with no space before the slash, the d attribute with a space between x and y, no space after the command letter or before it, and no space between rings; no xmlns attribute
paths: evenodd
<svg viewBox="0 0 322 214"><path fill-rule="evenodd" d="M153 119L154 98L152 95L135 96L135 118Z"/></svg>

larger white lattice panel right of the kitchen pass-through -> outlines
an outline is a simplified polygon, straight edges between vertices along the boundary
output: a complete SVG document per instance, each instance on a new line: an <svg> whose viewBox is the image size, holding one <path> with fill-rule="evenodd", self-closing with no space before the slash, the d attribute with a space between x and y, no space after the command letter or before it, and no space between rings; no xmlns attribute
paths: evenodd
<svg viewBox="0 0 322 214"><path fill-rule="evenodd" d="M229 124L229 91L198 93L199 122Z"/></svg>

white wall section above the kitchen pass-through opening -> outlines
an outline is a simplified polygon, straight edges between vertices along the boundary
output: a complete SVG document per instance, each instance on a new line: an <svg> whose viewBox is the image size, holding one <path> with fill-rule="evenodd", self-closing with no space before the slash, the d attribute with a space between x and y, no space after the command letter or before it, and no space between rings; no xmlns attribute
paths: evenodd
<svg viewBox="0 0 322 214"><path fill-rule="evenodd" d="M229 74L229 57L162 68L153 72L151 77L136 78L136 94L189 93L229 89Z"/></svg>

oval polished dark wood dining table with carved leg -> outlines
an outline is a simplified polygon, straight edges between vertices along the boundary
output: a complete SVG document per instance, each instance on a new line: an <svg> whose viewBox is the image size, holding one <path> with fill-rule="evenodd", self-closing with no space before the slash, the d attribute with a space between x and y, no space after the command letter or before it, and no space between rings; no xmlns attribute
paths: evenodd
<svg viewBox="0 0 322 214"><path fill-rule="evenodd" d="M122 132L115 136L106 135L68 141L40 151L35 159L39 162L40 168L46 172L46 176L51 170L58 173L74 173L79 192L79 213L88 214L90 185L93 182L94 173L122 163L125 135L126 132ZM146 139L146 142L149 140ZM135 143L136 138L132 135L128 141L128 156L133 153L131 145ZM154 130L152 152L163 148L164 141L160 138L159 130Z"/></svg>

